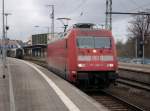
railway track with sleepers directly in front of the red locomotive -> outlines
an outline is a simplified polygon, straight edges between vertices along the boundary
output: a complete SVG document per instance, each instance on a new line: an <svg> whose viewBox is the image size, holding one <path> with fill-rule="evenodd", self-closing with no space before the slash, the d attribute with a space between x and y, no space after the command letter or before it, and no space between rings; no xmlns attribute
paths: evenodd
<svg viewBox="0 0 150 111"><path fill-rule="evenodd" d="M108 93L107 91L92 91L90 93L86 93L111 111L144 111L144 109L126 102L121 98Z"/></svg>

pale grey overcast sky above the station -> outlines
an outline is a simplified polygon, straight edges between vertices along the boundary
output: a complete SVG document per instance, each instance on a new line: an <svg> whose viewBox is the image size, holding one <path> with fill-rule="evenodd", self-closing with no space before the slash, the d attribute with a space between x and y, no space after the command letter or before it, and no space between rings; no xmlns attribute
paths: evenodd
<svg viewBox="0 0 150 111"><path fill-rule="evenodd" d="M2 0L1 0L2 1ZM50 27L51 9L46 5L55 5L55 30L63 31L59 17L69 17L69 25L81 22L105 24L106 0L4 0L8 16L10 39L26 41L32 34L47 32ZM150 7L150 0L113 0L113 11L137 12ZM0 3L2 9L2 3ZM1 10L0 10L1 11ZM128 22L131 16L113 15L113 35L116 40L127 38ZM2 16L0 18L2 26ZM35 28L39 25L41 27ZM2 28L0 27L0 30ZM2 31L0 32L2 35Z"/></svg>

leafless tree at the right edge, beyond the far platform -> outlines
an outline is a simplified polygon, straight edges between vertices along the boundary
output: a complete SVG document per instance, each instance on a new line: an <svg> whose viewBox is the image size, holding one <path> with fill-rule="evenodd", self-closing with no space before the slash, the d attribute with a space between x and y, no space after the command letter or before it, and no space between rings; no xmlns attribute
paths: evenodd
<svg viewBox="0 0 150 111"><path fill-rule="evenodd" d="M147 10L146 12L150 12ZM141 12L144 13L144 12ZM129 39L134 41L134 50L137 50L137 57L142 57L142 46L145 45L145 56L150 57L150 15L136 15L130 22ZM143 41L144 34L144 41ZM135 51L136 53L136 51ZM134 54L136 55L136 54Z"/></svg>

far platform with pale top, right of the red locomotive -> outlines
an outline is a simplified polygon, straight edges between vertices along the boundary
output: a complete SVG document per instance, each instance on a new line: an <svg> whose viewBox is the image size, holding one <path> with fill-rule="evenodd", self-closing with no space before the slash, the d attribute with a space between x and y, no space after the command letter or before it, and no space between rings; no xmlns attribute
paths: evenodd
<svg viewBox="0 0 150 111"><path fill-rule="evenodd" d="M150 84L150 65L119 63L119 76Z"/></svg>

